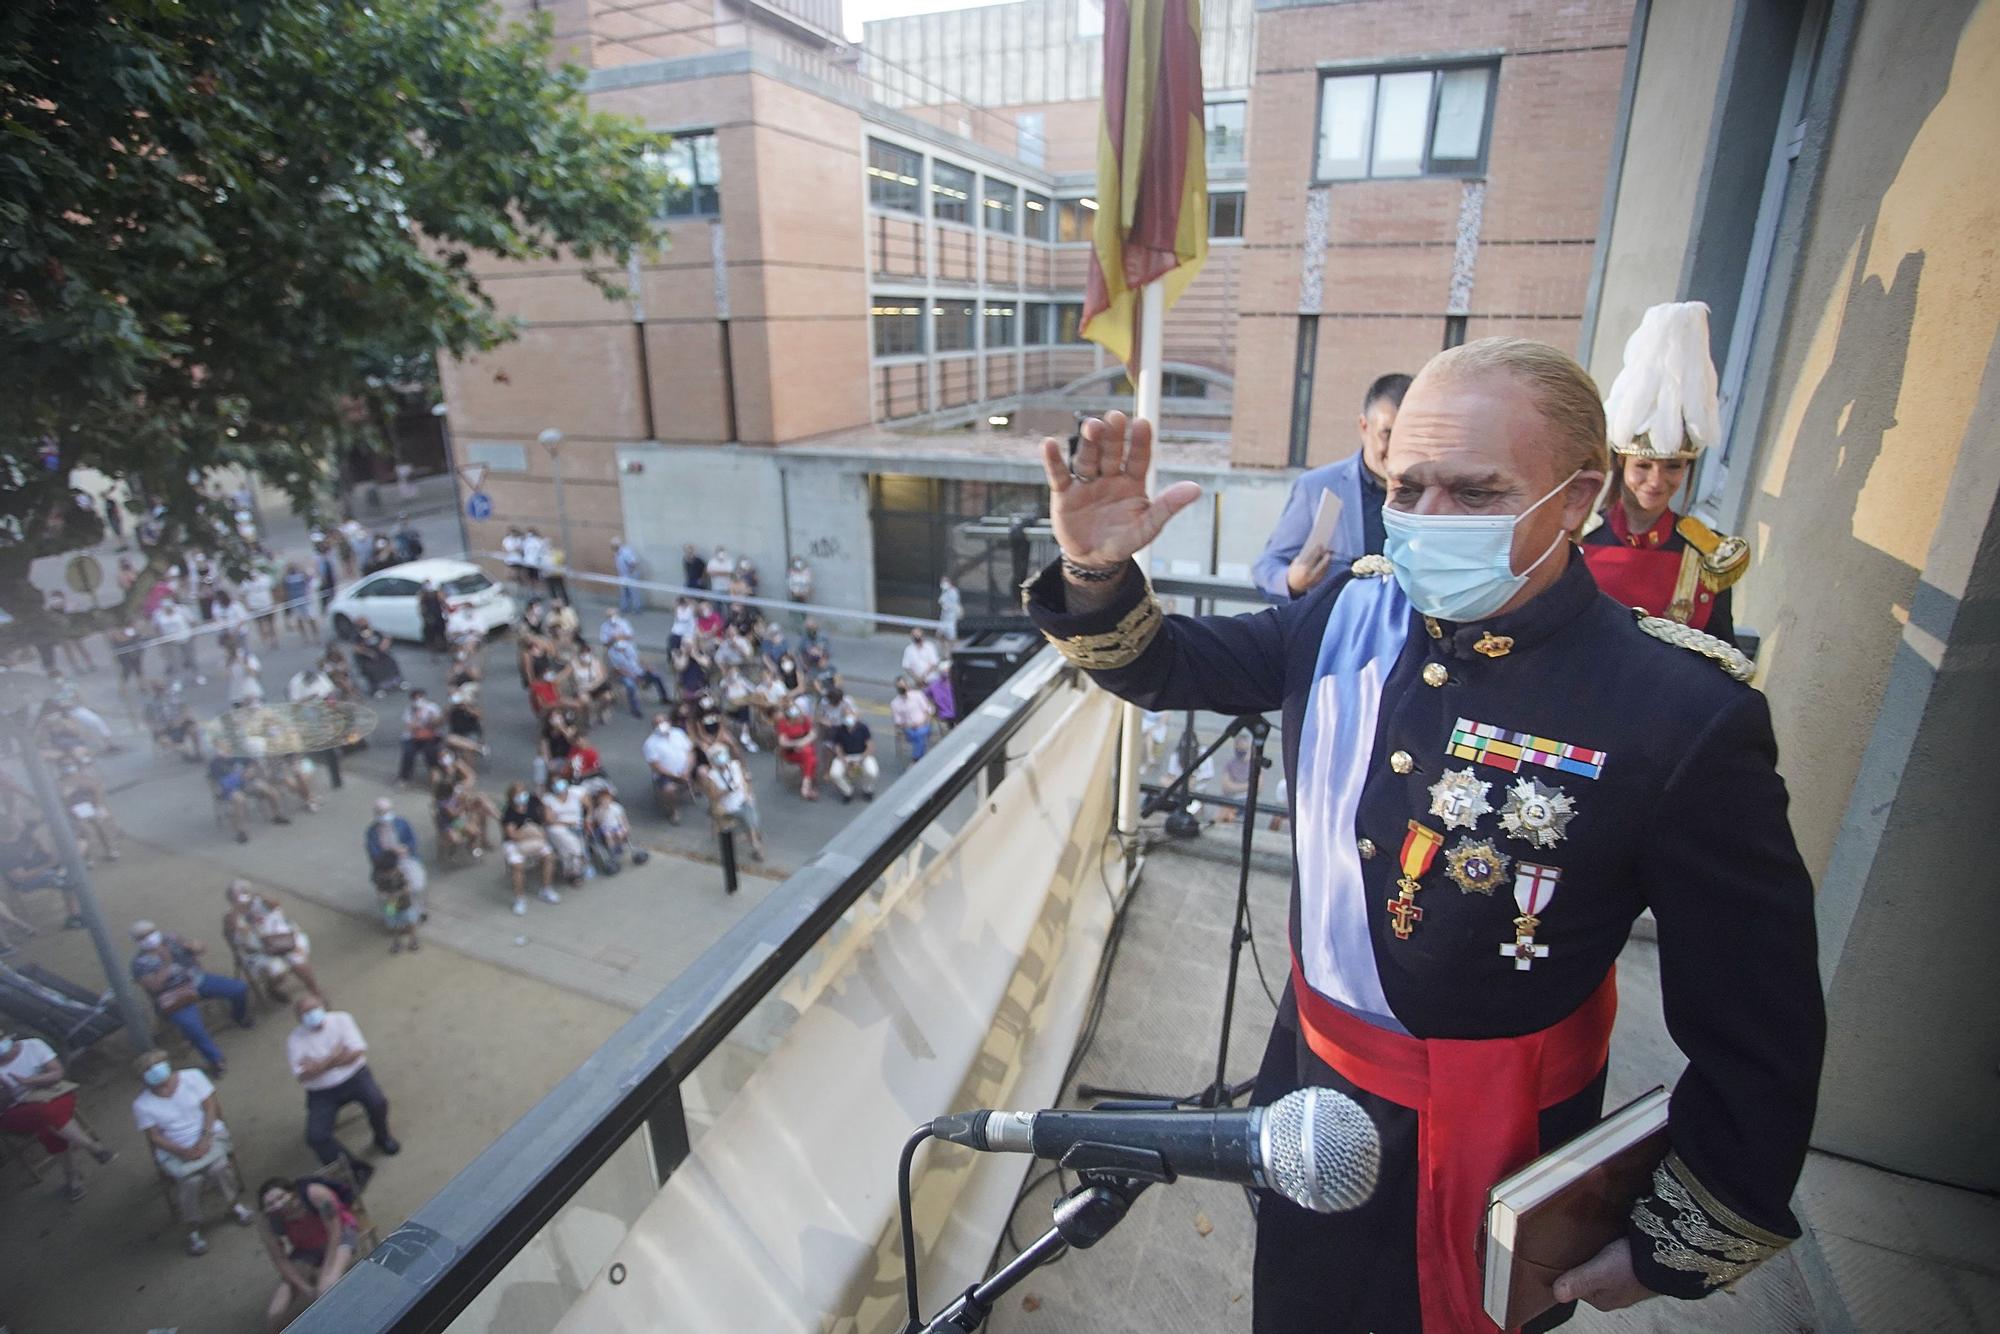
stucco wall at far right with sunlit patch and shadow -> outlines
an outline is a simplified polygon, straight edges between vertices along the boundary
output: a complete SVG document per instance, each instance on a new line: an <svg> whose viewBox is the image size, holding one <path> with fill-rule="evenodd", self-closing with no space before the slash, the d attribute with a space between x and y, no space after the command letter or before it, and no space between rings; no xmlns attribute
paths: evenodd
<svg viewBox="0 0 2000 1334"><path fill-rule="evenodd" d="M1816 1142L1992 1188L2000 6L1862 6L1748 500L1822 884ZM1984 554L1982 554L1984 552Z"/></svg>

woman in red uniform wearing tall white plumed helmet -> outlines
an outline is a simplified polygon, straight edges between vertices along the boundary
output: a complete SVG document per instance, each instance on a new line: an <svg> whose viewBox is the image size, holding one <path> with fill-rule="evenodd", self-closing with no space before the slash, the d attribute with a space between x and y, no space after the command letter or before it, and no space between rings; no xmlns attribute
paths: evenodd
<svg viewBox="0 0 2000 1334"><path fill-rule="evenodd" d="M1750 544L1674 512L1694 458L1718 434L1708 306L1646 312L1604 412L1618 468L1602 514L1584 530L1590 574L1624 606L1730 640L1730 586L1750 568Z"/></svg>

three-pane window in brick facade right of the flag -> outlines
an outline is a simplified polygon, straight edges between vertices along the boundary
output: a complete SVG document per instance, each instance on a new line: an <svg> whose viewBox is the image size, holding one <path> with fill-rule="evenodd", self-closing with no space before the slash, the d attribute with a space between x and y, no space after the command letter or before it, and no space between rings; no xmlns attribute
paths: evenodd
<svg viewBox="0 0 2000 1334"><path fill-rule="evenodd" d="M1494 66L1338 74L1320 84L1320 180L1486 170Z"/></svg>

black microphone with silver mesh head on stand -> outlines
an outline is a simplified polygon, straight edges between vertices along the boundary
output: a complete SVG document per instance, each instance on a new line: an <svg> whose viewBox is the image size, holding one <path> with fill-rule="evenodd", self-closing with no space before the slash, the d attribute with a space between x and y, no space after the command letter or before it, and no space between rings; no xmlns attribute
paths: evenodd
<svg viewBox="0 0 2000 1334"><path fill-rule="evenodd" d="M1174 1176L1260 1186L1316 1214L1374 1194L1382 1140L1368 1112L1332 1088L1300 1088L1266 1108L958 1112L930 1134L990 1154L1062 1158L1078 1144L1158 1154Z"/></svg>

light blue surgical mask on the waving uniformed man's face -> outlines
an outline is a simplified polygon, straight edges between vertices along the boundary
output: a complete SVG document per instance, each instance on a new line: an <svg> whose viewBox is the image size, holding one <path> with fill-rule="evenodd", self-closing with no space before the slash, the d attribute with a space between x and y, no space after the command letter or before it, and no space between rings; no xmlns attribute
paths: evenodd
<svg viewBox="0 0 2000 1334"><path fill-rule="evenodd" d="M1556 534L1546 552L1514 574L1514 530L1560 496L1578 472L1582 468L1520 514L1410 514L1382 506L1382 554L1396 566L1410 606L1438 620L1478 620L1506 606L1566 540Z"/></svg>

